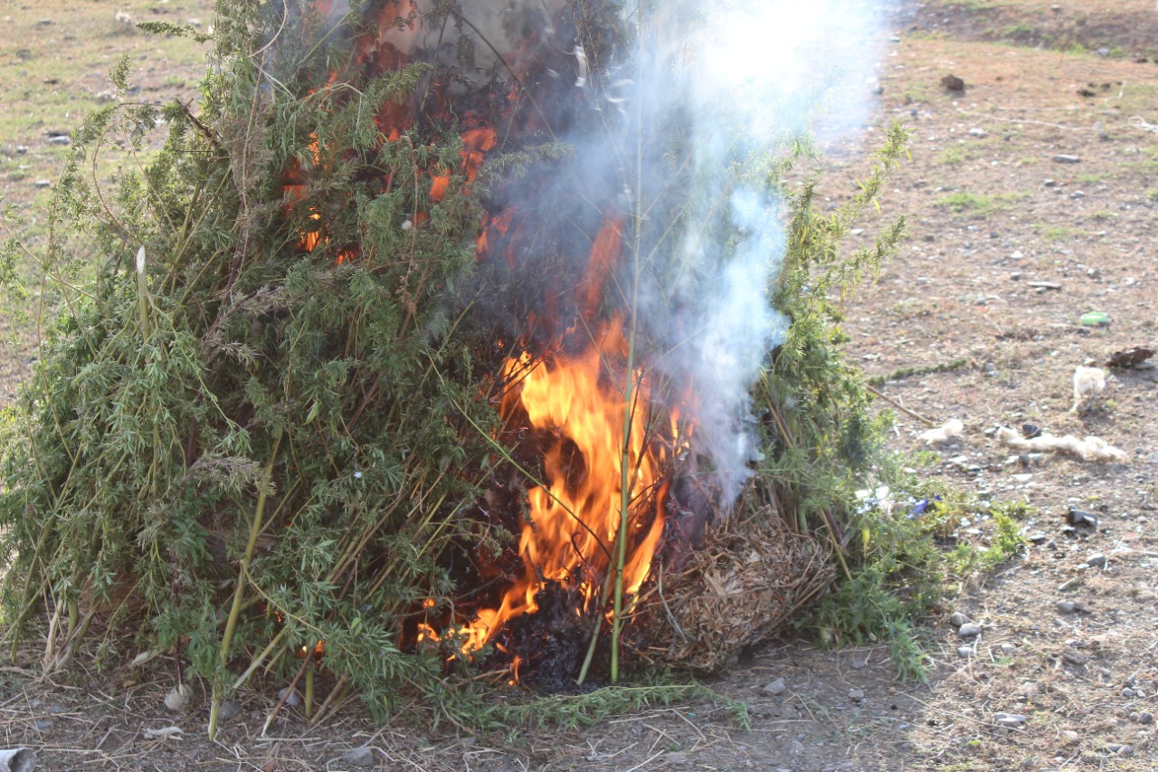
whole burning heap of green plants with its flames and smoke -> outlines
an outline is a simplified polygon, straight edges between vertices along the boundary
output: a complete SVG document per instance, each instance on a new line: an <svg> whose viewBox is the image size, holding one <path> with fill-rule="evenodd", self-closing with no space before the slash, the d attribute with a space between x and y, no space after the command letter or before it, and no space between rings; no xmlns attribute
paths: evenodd
<svg viewBox="0 0 1158 772"><path fill-rule="evenodd" d="M171 651L212 731L259 672L321 715L716 669L828 584L879 427L827 296L900 236L837 248L901 136L833 216L780 179L863 20L629 6L222 0L199 110L90 116L54 225L95 281L53 242L5 429L14 646Z"/></svg>

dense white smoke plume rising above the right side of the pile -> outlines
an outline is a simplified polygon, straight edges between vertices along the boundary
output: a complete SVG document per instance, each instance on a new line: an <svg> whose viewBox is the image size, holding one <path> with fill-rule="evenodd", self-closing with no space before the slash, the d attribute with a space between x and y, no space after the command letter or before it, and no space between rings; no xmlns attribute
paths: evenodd
<svg viewBox="0 0 1158 772"><path fill-rule="evenodd" d="M628 131L661 133L674 115L690 125L684 223L659 245L677 269L646 294L648 325L668 349L659 366L698 398L695 450L711 458L725 505L758 454L749 394L787 328L769 301L784 212L768 161L809 128L833 138L863 125L887 21L880 6L837 0L688 0L642 30L642 115Z"/></svg>

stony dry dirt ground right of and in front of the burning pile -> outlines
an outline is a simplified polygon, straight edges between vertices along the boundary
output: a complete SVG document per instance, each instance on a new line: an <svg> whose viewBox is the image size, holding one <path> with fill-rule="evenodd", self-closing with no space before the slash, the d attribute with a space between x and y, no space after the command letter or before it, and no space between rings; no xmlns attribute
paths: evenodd
<svg viewBox="0 0 1158 772"><path fill-rule="evenodd" d="M1158 348L1156 23L1151 0L941 0L904 14L886 46L878 118L913 129L911 160L858 238L904 214L910 239L848 306L848 352L884 379L897 447L960 418L932 473L1035 508L1032 546L953 602L980 634L962 638L947 613L930 621L929 684L896 680L887 642L785 639L709 684L747 704L750 731L694 702L507 736L374 728L354 709L310 727L287 708L263 733L270 700L250 695L208 743L204 695L160 708L171 683L39 687L0 669L0 746L36 748L49 770L1158 767L1158 369L1116 371L1070 413L1076 366ZM963 93L941 88L947 74ZM828 161L834 205L862 163L845 151ZM1083 325L1087 312L1108 323ZM1098 436L1128 463L998 444L998 427L1024 423ZM1068 527L1070 507L1097 526ZM170 724L185 735L144 735ZM343 756L360 746L368 767Z"/></svg>

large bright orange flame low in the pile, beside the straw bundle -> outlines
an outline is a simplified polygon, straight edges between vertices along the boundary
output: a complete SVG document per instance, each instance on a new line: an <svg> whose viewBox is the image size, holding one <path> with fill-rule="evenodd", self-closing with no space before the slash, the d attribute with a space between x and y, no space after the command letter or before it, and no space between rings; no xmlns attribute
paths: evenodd
<svg viewBox="0 0 1158 772"><path fill-rule="evenodd" d="M598 282L620 250L620 225L604 224L595 239L589 283L582 301L587 314L598 303ZM613 377L610 363L622 360L626 341L622 318L613 319L578 355L556 354L533 360L511 358L504 376L521 381L508 388L501 415L520 412L527 422L555 436L543 457L544 485L528 491L529 515L519 540L522 575L506 590L497 609L483 609L467 626L463 650L485 646L511 619L538 610L536 593L545 582L577 585L584 610L601 602L614 582L615 545L620 538L626 465L628 542L623 588L635 595L651 571L664 532L664 486L658 443L647 425L650 385L639 372L631 405L624 373Z"/></svg>

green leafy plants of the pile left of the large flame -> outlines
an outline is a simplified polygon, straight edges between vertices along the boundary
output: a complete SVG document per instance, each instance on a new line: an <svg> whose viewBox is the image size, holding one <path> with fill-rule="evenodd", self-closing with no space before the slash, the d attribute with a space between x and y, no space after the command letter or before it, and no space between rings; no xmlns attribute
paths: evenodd
<svg viewBox="0 0 1158 772"><path fill-rule="evenodd" d="M397 650L402 619L448 603L448 544L486 538L455 512L485 458L464 427L494 416L444 300L481 210L455 139L382 141L374 122L422 66L329 83L335 41L286 77L250 56L259 3L219 10L199 117L110 103L58 187L60 313L0 424L7 634L46 606L61 663L94 633L113 653L125 626L140 649L183 647L218 700L258 667L300 675L295 653L325 641L382 715L441 668ZM98 187L102 147L139 154L159 121L163 150ZM438 202L432 168L452 176Z"/></svg>

